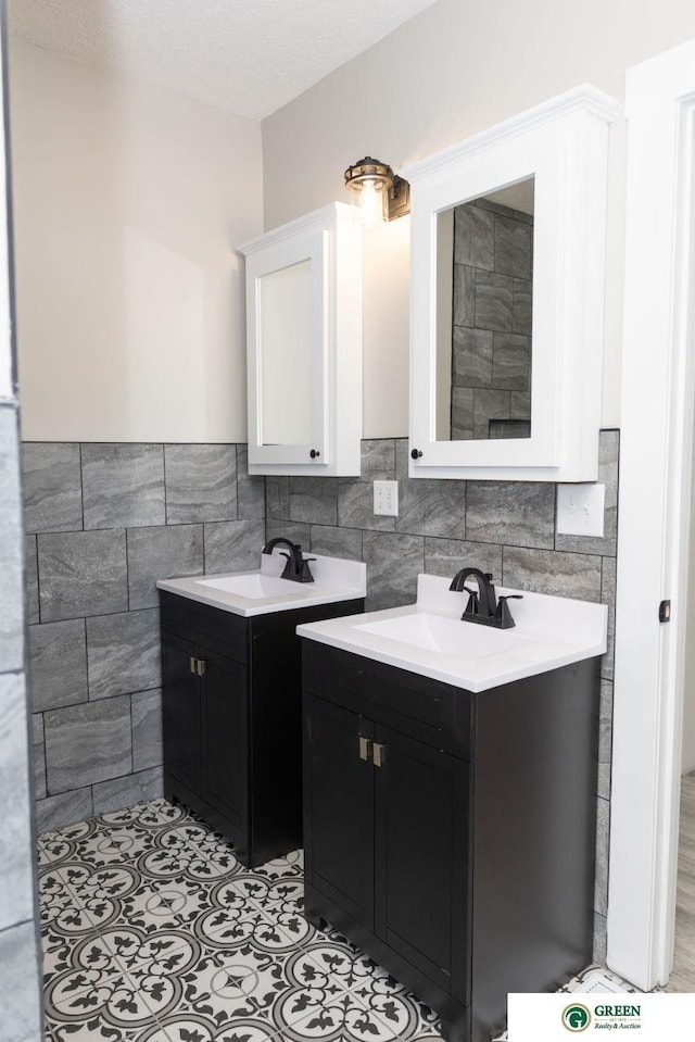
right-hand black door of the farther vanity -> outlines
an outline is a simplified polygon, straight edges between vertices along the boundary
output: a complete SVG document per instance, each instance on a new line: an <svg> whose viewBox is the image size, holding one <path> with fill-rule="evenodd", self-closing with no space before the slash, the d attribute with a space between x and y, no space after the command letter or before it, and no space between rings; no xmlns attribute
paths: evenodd
<svg viewBox="0 0 695 1042"><path fill-rule="evenodd" d="M202 694L202 796L240 829L247 829L247 669L231 658L201 650L205 662Z"/></svg>

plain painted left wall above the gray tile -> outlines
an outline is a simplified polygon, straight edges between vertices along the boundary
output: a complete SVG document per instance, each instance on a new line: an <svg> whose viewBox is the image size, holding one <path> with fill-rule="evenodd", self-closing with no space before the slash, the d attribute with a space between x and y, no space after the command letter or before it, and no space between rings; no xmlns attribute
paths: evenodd
<svg viewBox="0 0 695 1042"><path fill-rule="evenodd" d="M23 437L245 441L260 124L16 38L10 73Z"/></svg>

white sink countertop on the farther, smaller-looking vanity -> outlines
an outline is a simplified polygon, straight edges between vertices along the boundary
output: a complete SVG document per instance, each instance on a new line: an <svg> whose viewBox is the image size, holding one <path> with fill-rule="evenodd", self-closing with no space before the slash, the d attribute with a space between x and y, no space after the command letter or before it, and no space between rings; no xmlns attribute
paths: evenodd
<svg viewBox="0 0 695 1042"><path fill-rule="evenodd" d="M271 554L262 553L261 567L250 572L228 572L220 575L199 575L181 579L160 579L157 588L179 597L200 601L212 607L231 612L233 615L267 615L270 612L289 612L292 608L309 607L314 604L332 604L338 601L352 601L365 595L367 588L367 568L359 561L345 561L342 557L325 557L320 554L303 554L311 560L314 582L293 582L290 579L277 581L285 568L286 558L277 548ZM278 592L271 597L242 597L240 593L220 589L225 579L242 576L269 576L276 581ZM223 580L220 582L220 580ZM279 591L279 587L282 591ZM285 590L285 587L287 590Z"/></svg>

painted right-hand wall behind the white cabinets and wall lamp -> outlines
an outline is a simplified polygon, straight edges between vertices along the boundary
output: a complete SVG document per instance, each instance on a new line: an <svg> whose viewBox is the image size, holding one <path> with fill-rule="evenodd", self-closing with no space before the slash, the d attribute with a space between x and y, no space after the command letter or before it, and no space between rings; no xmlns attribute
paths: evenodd
<svg viewBox="0 0 695 1042"><path fill-rule="evenodd" d="M692 0L438 0L264 121L265 227L345 198L342 172L365 153L397 170L584 81L622 99L629 65L692 37ZM605 426L619 423L623 148L621 126L610 171ZM407 371L401 268L386 266L365 286L367 437L407 432L402 390L390 387L394 367ZM384 344L387 372L370 357Z"/></svg>

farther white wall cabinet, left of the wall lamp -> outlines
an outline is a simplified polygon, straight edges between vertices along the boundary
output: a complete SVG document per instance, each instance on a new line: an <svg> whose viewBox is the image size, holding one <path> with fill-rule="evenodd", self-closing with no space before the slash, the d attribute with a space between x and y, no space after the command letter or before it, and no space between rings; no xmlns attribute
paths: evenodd
<svg viewBox="0 0 695 1042"><path fill-rule="evenodd" d="M240 247L249 473L359 474L362 228L331 203Z"/></svg>

